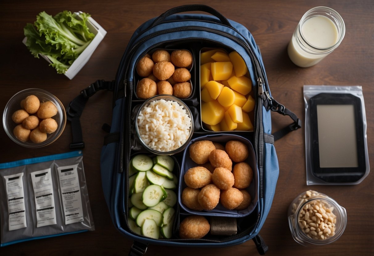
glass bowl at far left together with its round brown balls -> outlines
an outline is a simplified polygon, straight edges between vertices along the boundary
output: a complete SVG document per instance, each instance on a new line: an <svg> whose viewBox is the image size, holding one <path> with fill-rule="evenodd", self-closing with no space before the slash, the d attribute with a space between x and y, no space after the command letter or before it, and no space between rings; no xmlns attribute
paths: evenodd
<svg viewBox="0 0 374 256"><path fill-rule="evenodd" d="M65 129L64 105L53 94L37 88L19 91L7 102L3 127L15 143L39 148L56 141Z"/></svg>

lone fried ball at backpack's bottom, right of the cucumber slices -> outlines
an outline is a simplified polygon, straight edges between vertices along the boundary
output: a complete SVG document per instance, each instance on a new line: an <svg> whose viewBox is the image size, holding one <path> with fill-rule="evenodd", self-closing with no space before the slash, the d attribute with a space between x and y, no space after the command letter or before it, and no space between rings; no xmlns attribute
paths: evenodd
<svg viewBox="0 0 374 256"><path fill-rule="evenodd" d="M204 216L187 216L179 226L179 236L181 238L199 239L208 234L210 225Z"/></svg>

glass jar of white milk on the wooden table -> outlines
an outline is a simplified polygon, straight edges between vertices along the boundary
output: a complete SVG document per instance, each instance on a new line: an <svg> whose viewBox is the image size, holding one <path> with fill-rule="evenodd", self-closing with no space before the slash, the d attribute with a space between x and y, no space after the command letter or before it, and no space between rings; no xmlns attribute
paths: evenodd
<svg viewBox="0 0 374 256"><path fill-rule="evenodd" d="M297 66L313 66L339 46L345 32L339 13L329 7L314 7L297 25L288 44L288 56Z"/></svg>

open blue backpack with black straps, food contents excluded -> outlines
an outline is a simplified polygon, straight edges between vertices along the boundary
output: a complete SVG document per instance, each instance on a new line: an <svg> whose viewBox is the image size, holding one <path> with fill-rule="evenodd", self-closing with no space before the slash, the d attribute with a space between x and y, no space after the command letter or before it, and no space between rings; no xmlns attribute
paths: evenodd
<svg viewBox="0 0 374 256"><path fill-rule="evenodd" d="M179 14L188 11L202 11L206 14ZM199 48L217 47L237 51L244 59L252 79L255 99L254 131L236 133L247 138L253 144L254 161L257 165L257 185L254 209L237 220L237 234L208 236L200 239L181 239L178 225L185 215L183 209L175 206L174 234L171 239L152 239L132 232L128 224L129 214L129 160L137 150L132 144L132 109L142 100L134 96L137 86L136 65L146 53L153 49L192 49L195 68L191 71L191 83L194 92L185 102L191 109L200 109L199 88ZM196 50L197 49L197 50ZM117 230L127 238L134 240L129 255L143 255L148 244L164 246L232 246L253 240L260 254L267 246L259 235L272 205L279 166L274 141L290 131L301 127L300 119L282 104L276 102L270 93L264 63L260 49L251 33L243 25L226 19L217 10L200 4L184 5L172 8L157 18L142 24L132 35L128 47L120 61L114 81L98 80L83 90L67 108L68 120L73 131L72 149L84 147L79 116L82 114L88 98L98 90L113 91L113 118L111 125L105 124L108 131L101 151L101 179L110 216ZM271 112L288 115L292 124L272 134ZM196 135L206 135L199 119L195 122ZM231 134L230 132L222 132ZM140 150L144 152L145 150ZM181 165L183 152L175 154L174 159ZM179 170L180 171L180 170ZM177 173L176 173L177 174ZM177 174L179 175L179 174ZM185 213L184 213L185 214Z"/></svg>

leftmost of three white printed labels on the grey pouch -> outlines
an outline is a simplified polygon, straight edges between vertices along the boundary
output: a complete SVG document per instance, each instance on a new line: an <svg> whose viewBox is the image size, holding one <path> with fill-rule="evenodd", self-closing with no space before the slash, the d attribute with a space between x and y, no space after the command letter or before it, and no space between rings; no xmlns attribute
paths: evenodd
<svg viewBox="0 0 374 256"><path fill-rule="evenodd" d="M26 228L23 173L4 176L8 199L9 231Z"/></svg>

